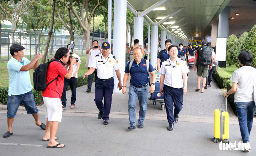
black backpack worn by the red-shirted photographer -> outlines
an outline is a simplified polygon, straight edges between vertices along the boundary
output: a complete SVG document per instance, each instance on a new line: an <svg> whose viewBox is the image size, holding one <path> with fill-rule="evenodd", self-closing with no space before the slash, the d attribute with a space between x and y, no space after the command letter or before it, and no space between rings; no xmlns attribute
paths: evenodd
<svg viewBox="0 0 256 156"><path fill-rule="evenodd" d="M48 68L48 65L49 63L53 62L53 61L58 61L62 64L62 62L59 60L59 59L51 59L49 61L48 59L48 62L46 63L43 63L43 64L40 64L34 71L33 73L33 81L34 81L34 88L36 90L36 93L37 91L43 91L45 90L45 88L50 84L52 83L54 80L57 80L56 83L57 83L57 86L58 86L58 81L59 81L59 76L57 76L55 79L53 79L52 81L50 81L48 84L46 84L46 74L47 74L47 68Z"/></svg>

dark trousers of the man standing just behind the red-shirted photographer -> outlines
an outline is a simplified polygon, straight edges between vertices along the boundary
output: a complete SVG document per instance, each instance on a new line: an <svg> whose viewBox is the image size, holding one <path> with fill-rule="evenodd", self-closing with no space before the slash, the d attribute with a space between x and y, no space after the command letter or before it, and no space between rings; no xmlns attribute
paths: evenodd
<svg viewBox="0 0 256 156"><path fill-rule="evenodd" d="M61 95L61 101L62 101L62 105L64 107L66 107L67 105L67 98L66 98L66 91L68 88L68 85L70 85L71 88L71 105L75 104L75 100L76 100L76 82L78 81L77 78L75 77L71 77L70 79L66 79L64 78L64 87L63 87L63 92Z"/></svg>

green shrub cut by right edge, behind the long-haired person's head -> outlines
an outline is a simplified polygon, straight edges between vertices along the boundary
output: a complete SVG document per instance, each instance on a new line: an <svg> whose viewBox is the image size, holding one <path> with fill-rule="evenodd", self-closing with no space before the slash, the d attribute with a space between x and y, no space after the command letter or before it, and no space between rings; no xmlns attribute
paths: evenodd
<svg viewBox="0 0 256 156"><path fill-rule="evenodd" d="M251 31L248 33L247 37L245 38L244 43L242 44L241 50L250 51L253 55L253 62L252 66L256 68L256 25L251 28Z"/></svg>

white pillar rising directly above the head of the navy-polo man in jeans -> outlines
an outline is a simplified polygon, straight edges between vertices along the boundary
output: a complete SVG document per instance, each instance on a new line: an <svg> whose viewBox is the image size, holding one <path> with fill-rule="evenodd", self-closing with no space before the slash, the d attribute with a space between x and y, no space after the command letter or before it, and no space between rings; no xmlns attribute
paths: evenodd
<svg viewBox="0 0 256 156"><path fill-rule="evenodd" d="M134 17L134 40L138 39L140 45L143 44L143 19L143 17Z"/></svg>

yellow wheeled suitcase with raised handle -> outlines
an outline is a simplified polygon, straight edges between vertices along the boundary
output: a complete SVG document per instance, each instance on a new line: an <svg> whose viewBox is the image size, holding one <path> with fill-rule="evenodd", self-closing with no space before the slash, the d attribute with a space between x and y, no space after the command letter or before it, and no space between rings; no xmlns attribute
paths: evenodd
<svg viewBox="0 0 256 156"><path fill-rule="evenodd" d="M214 142L223 140L224 143L229 143L229 114L227 109L227 98L225 98L226 109L214 110L213 134Z"/></svg>

